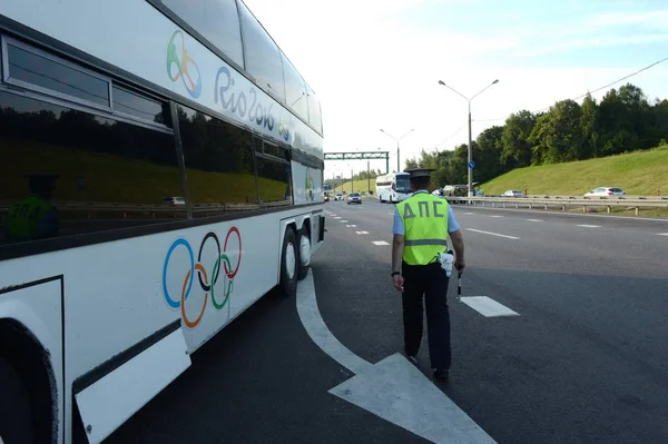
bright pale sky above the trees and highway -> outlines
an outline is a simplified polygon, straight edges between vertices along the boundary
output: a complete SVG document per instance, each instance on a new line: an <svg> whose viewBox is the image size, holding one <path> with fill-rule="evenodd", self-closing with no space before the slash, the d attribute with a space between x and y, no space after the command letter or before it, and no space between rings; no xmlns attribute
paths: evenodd
<svg viewBox="0 0 668 444"><path fill-rule="evenodd" d="M668 57L662 0L244 1L318 96L325 152L390 151L391 171L406 134L401 169L422 149L466 144L465 98L483 89L471 101L473 139ZM664 99L666 79L668 61L592 96L628 81ZM371 168L384 172L385 161ZM327 160L325 178L365 169Z"/></svg>

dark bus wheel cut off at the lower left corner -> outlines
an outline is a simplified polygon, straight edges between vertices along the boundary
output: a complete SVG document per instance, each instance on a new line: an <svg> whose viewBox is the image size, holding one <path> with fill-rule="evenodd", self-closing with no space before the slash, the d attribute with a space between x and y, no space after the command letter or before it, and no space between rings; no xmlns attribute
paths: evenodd
<svg viewBox="0 0 668 444"><path fill-rule="evenodd" d="M0 356L0 442L32 443L30 395L18 372Z"/></svg>

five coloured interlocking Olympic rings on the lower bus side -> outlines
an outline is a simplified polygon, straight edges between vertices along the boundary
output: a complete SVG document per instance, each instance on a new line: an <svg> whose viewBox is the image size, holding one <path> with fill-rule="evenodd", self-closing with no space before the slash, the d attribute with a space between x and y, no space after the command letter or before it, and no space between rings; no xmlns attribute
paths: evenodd
<svg viewBox="0 0 668 444"><path fill-rule="evenodd" d="M232 260L229 259L229 257L227 255L227 246L228 246L229 239L233 235L236 235L236 237L238 238L238 244L239 244L238 258L236 260L236 265L234 266L234 268L232 266ZM217 256L216 256L215 263L213 264L210 275L207 273L207 269L202 264L202 253L203 253L204 246L206 245L207 241L215 243L216 248L217 248ZM167 273L168 273L168 266L169 266L169 260L171 259L171 255L178 247L185 248L186 251L188 253L190 268L185 273L184 283L181 286L181 290L180 290L180 297L175 298L174 295L171 295L169 293L169 289L167 288ZM220 267L220 264L223 264L223 267ZM169 307L171 307L174 309L180 308L181 318L184 320L184 324L186 324L186 326L189 328L196 327L202 322L202 318L204 317L204 312L206 312L209 293L212 295L212 303L213 303L215 309L219 310L223 307L225 307L225 305L229 300L229 296L232 295L232 292L234 290L234 277L237 275L240 265L242 265L242 235L237 227L232 227L227 231L227 235L225 236L225 243L223 244L223 250L220 250L220 241L218 240L218 236L216 236L216 234L213 231L207 233L206 236L204 236L204 239L202 239L202 244L199 245L197 263L195 263L195 254L193 253L193 248L190 247L190 244L183 237L179 237L174 243L171 243L171 246L167 250L167 256L165 257L165 264L163 265L163 294L165 296L165 300L167 302L167 305L169 305ZM225 288L224 288L224 294L222 295L223 296L222 299L220 299L220 294L218 293L218 295L216 295L216 292L215 292L216 284L218 282L218 278L220 277L220 268L223 268L223 270L225 273L224 279L227 280L227 285L224 285ZM197 272L197 280L199 283L199 287L202 287L202 290L204 292L204 303L202 304L202 309L199 310L199 315L195 319L190 319L188 317L188 315L186 314L186 300L188 299L188 296L190 296L190 290L193 289L193 282L195 280L195 272ZM210 279L209 279L209 276L210 276Z"/></svg>

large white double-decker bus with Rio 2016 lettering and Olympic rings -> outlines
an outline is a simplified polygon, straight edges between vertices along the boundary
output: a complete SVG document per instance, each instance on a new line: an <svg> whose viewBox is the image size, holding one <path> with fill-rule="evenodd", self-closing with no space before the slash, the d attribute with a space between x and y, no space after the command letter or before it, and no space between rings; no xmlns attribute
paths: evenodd
<svg viewBox="0 0 668 444"><path fill-rule="evenodd" d="M3 0L0 40L0 442L98 443L295 294L320 102L240 0Z"/></svg>

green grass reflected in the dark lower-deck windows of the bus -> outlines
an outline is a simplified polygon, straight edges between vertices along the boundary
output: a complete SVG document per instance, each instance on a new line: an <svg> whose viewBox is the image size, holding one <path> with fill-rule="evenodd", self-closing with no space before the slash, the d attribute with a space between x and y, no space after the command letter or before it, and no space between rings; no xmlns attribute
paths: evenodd
<svg viewBox="0 0 668 444"><path fill-rule="evenodd" d="M58 174L55 200L159 205L181 196L178 168L139 159L21 141L0 145L0 187L7 199L28 194L24 174ZM255 176L186 171L196 204L254 203ZM261 178L262 199L283 200L285 184Z"/></svg>

